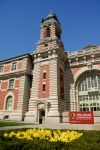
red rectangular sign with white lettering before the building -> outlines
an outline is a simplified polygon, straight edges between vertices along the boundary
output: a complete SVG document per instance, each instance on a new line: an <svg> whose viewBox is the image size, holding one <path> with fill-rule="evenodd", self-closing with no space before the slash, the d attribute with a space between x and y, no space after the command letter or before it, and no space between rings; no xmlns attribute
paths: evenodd
<svg viewBox="0 0 100 150"><path fill-rule="evenodd" d="M92 111L87 112L69 112L69 120L72 124L93 124L94 116Z"/></svg>

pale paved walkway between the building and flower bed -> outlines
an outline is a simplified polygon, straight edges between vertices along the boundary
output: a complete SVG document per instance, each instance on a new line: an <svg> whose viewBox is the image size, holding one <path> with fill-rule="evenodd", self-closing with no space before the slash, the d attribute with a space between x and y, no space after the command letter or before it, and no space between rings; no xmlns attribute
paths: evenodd
<svg viewBox="0 0 100 150"><path fill-rule="evenodd" d="M0 127L0 130L22 129L22 128L48 128L48 129L69 129L69 130L100 130L100 124L35 124L35 125L22 125L22 126L8 126Z"/></svg>

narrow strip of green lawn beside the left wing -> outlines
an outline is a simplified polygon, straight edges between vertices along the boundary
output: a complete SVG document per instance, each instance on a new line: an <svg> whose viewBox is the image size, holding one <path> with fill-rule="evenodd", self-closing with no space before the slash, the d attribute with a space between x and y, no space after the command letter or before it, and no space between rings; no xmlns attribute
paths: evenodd
<svg viewBox="0 0 100 150"><path fill-rule="evenodd" d="M32 125L32 123L25 123L25 122L17 122L17 121L3 121L0 120L0 127L7 127L7 126L22 126L22 125Z"/></svg>

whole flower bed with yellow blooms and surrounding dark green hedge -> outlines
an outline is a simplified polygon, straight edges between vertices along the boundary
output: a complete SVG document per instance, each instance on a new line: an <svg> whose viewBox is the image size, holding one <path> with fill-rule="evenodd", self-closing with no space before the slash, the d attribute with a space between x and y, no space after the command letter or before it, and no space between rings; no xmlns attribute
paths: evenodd
<svg viewBox="0 0 100 150"><path fill-rule="evenodd" d="M21 129L0 133L0 150L100 150L100 132Z"/></svg>

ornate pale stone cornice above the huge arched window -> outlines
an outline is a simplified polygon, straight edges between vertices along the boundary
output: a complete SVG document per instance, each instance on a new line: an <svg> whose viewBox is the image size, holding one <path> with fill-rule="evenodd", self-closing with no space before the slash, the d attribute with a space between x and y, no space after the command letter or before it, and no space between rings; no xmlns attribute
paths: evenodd
<svg viewBox="0 0 100 150"><path fill-rule="evenodd" d="M100 46L87 46L80 51L68 52L68 62L71 67L85 66L88 63L100 63Z"/></svg>

